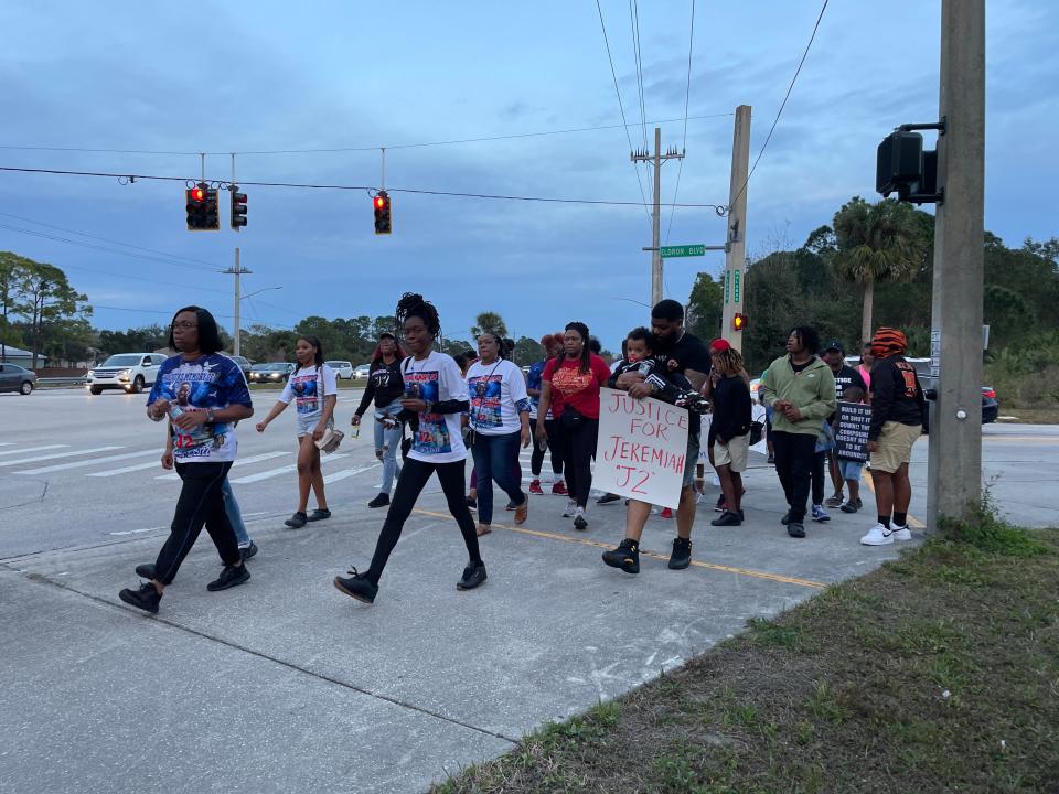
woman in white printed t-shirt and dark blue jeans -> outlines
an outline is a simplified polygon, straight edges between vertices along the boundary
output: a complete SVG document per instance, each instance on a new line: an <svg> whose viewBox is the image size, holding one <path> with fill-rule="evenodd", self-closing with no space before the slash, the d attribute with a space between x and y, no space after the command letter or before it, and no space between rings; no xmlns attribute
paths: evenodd
<svg viewBox="0 0 1059 794"><path fill-rule="evenodd" d="M485 331L478 337L479 358L467 371L479 535L491 532L494 482L515 505L515 524L525 523L530 512L518 466L518 447L530 446L530 398L522 369L507 361L505 353L504 341Z"/></svg>

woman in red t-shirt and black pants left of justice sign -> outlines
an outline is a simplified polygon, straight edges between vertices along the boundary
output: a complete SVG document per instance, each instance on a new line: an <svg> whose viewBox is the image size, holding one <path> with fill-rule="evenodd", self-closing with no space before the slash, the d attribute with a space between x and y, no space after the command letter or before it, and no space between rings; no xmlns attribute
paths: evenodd
<svg viewBox="0 0 1059 794"><path fill-rule="evenodd" d="M574 527L586 529L585 507L592 487L592 455L599 431L599 388L610 378L610 367L588 347L588 326L567 323L563 334L563 353L552 358L541 376L541 404L537 414L556 418L556 436L563 450L563 468L570 490L564 518L574 516ZM547 439L537 423L537 442Z"/></svg>

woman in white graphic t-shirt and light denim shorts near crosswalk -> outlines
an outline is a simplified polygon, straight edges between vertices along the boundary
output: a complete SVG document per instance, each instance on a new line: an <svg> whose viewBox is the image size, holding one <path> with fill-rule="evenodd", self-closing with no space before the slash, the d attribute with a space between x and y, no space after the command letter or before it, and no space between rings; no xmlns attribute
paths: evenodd
<svg viewBox="0 0 1059 794"><path fill-rule="evenodd" d="M339 382L334 369L323 363L323 347L315 336L299 336L295 344L298 369L287 380L282 394L257 431L265 432L269 422L295 400L298 411L298 509L284 522L291 529L301 529L308 522L331 517L323 492L320 450L317 441L334 423L334 405L339 399ZM317 495L317 509L309 509L309 491Z"/></svg>

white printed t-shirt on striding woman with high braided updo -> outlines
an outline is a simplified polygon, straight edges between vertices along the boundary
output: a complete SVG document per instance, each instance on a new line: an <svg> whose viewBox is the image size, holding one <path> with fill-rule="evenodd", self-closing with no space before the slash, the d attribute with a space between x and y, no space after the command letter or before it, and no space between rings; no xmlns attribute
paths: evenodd
<svg viewBox="0 0 1059 794"><path fill-rule="evenodd" d="M421 361L409 356L400 363L405 397L427 403L466 400L467 382L452 356L431 351ZM413 434L409 458L424 463L453 463L467 460L467 447L460 433L459 414L419 415L419 429Z"/></svg>

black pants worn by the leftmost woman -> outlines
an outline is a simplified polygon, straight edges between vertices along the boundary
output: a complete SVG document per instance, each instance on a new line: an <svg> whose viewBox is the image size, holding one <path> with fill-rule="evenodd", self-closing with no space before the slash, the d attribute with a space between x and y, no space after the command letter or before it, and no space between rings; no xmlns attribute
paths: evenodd
<svg viewBox="0 0 1059 794"><path fill-rule="evenodd" d="M154 572L162 584L173 581L203 526L217 547L222 562L236 565L243 558L224 506L224 481L231 468L231 462L176 464L176 474L183 485L169 537L154 560Z"/></svg>

